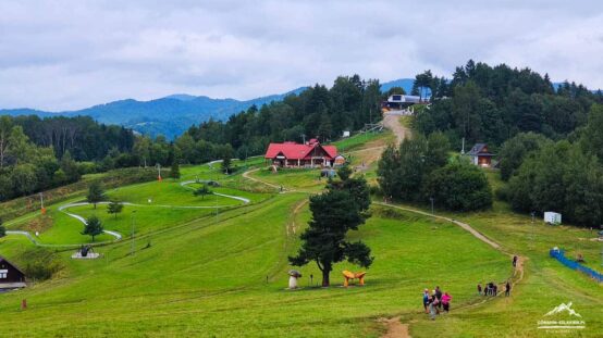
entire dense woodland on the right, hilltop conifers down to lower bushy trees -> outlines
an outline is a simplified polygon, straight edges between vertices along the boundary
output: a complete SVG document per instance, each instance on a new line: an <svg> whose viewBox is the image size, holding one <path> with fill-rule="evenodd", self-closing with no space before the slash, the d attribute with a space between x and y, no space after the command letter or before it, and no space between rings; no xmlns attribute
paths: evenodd
<svg viewBox="0 0 603 338"><path fill-rule="evenodd" d="M528 68L469 61L452 80L429 71L417 75L413 93L431 95L431 104L415 116L419 135L383 153L378 174L385 196L450 210L489 208L492 191L483 172L464 157L441 161L442 138L457 151L465 138L468 147L487 142L495 152L507 181L495 193L514 210L556 211L576 225L603 224L600 90L568 82L554 86Z"/></svg>

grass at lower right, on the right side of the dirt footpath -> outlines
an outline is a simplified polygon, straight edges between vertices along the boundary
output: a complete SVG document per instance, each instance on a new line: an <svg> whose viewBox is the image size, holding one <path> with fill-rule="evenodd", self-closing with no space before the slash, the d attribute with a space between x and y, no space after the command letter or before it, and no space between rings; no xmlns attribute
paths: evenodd
<svg viewBox="0 0 603 338"><path fill-rule="evenodd" d="M374 176L374 163L366 175L369 180ZM494 189L503 184L497 172L489 171L487 175ZM311 187L307 186L306 189ZM569 336L592 336L603 330L601 285L564 267L547 255L549 250L557 246L566 249L568 256L582 253L589 266L600 270L601 245L590 240L595 237L593 231L571 226L551 227L540 220L531 225L529 216L513 213L501 201L495 201L493 209L488 212L439 213L466 221L500 242L504 250L527 256L526 278L514 289L512 299L500 299L488 305L455 311L436 323L427 321L422 315L403 315L403 321L413 323L413 336L432 336L434 331L447 337L481 337L492 331L504 337L546 336L545 331L538 330L537 322L543 320L543 314L554 306L569 301L574 302L578 312L581 311L587 322L586 330L570 333ZM487 279L473 280L473 287L478 281Z"/></svg>

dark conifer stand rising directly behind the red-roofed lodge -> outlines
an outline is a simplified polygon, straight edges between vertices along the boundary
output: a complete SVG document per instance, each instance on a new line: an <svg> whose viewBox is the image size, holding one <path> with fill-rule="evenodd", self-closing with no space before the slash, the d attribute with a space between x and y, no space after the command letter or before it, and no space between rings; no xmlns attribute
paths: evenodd
<svg viewBox="0 0 603 338"><path fill-rule="evenodd" d="M380 88L376 79L340 76L331 88L317 84L283 101L254 105L226 122L210 120L192 126L175 145L182 161L200 163L220 159L212 151L232 150L234 157L245 159L263 153L269 142L336 139L343 130L358 130L381 120ZM230 150L220 149L229 146Z"/></svg>

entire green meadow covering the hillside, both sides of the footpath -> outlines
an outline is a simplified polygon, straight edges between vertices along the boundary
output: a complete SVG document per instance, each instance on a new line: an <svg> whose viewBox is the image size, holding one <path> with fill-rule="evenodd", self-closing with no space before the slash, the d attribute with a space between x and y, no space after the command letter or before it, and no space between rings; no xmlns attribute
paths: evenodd
<svg viewBox="0 0 603 338"><path fill-rule="evenodd" d="M391 134L346 140L362 149L382 145ZM354 146L354 142L358 142ZM374 181L376 163L364 158L359 174ZM246 162L246 163L245 163ZM261 158L235 161L235 174L219 173L220 164L182 166L182 178L127 185L107 191L125 205L116 216L106 204L64 211L96 214L106 229L124 238L95 248L98 260L72 260L69 248L38 248L23 236L0 239L0 254L21 266L32 251L52 253L62 270L51 279L19 291L0 293L2 333L11 337L380 337L380 318L398 316L413 337L549 337L537 322L562 302L574 303L586 328L563 337L595 337L603 331L601 285L549 258L558 246L568 255L582 253L596 264L601 245L593 233L551 227L518 215L496 201L491 211L436 214L470 224L501 245L496 250L459 226L429 215L373 204L370 217L350 239L371 248L374 263L366 286L343 288L336 264L330 288L318 287L313 264L303 273L300 289L287 290L287 256L299 247L299 234L310 220L307 199L325 179L318 171L284 170L273 174ZM243 177L248 170L254 181ZM493 186L497 173L488 174ZM184 181L216 180L216 192L241 200L193 196L200 186ZM287 193L275 193L283 186ZM150 202L149 202L150 199ZM379 197L376 197L379 199ZM32 213L7 222L10 229L38 230L39 242L90 242L79 221L58 209L85 200L84 195L49 205L48 214ZM426 211L426 205L411 206ZM193 208L190 208L193 206ZM216 208L220 206L220 208ZM136 211L136 213L134 213ZM112 241L109 235L97 242ZM586 239L586 240L584 240ZM44 251L46 250L46 251ZM508 254L525 256L521 279ZM313 278L310 278L312 276ZM478 296L478 283L516 280L512 297ZM421 292L440 286L453 296L452 312L430 321L422 313ZM22 299L28 308L21 310ZM558 335L557 335L558 336Z"/></svg>

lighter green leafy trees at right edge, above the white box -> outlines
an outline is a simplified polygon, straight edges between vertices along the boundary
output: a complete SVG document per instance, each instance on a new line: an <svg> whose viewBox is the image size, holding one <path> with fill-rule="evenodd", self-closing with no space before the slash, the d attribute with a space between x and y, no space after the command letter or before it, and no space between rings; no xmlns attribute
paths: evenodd
<svg viewBox="0 0 603 338"><path fill-rule="evenodd" d="M558 141L534 133L507 140L500 154L497 195L520 212L559 212L564 221L603 224L603 105L593 104L588 123Z"/></svg>

